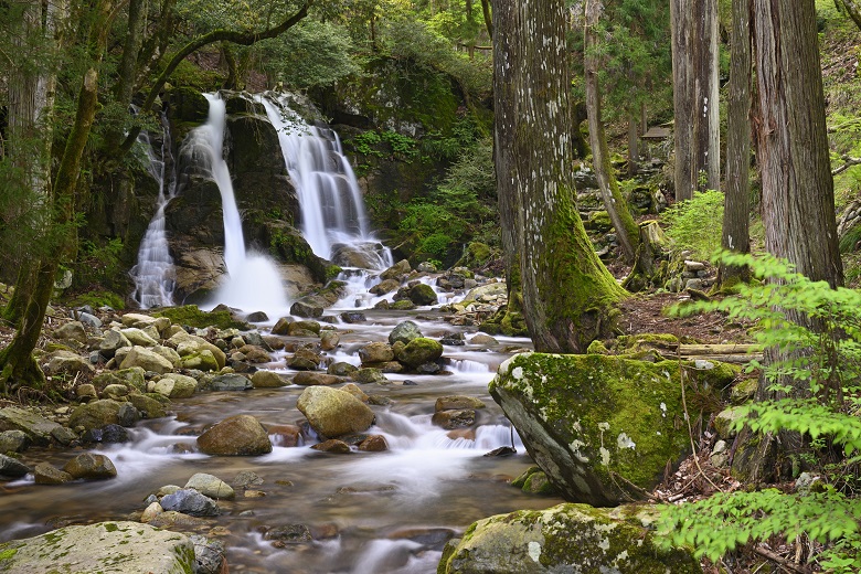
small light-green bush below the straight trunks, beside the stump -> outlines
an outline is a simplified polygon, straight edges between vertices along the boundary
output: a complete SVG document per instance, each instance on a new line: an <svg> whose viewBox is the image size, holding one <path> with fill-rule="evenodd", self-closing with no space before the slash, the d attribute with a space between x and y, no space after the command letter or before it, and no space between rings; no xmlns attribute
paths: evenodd
<svg viewBox="0 0 861 574"><path fill-rule="evenodd" d="M709 258L721 248L723 193L694 192L690 200L668 209L661 220L677 248L691 251L693 257Z"/></svg>

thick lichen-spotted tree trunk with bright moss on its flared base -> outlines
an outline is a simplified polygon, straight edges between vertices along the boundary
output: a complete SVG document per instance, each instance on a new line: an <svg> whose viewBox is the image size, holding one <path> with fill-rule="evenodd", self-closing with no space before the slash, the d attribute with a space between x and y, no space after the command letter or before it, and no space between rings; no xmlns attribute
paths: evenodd
<svg viewBox="0 0 861 574"><path fill-rule="evenodd" d="M535 349L583 352L608 332L625 291L595 256L571 182L565 8L553 0L493 10L496 168L502 227L518 225L523 311ZM512 205L520 209L508 212Z"/></svg>

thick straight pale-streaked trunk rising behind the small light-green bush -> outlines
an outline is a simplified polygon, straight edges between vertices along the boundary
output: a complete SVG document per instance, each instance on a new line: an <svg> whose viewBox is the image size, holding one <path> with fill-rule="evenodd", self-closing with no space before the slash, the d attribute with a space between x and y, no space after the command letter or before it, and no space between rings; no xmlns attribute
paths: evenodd
<svg viewBox="0 0 861 574"><path fill-rule="evenodd" d="M671 0L676 199L721 181L718 2Z"/></svg>

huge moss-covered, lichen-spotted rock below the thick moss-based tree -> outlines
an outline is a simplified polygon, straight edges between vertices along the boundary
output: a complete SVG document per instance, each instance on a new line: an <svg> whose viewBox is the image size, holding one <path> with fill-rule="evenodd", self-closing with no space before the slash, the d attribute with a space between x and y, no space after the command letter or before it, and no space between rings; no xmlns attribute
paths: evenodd
<svg viewBox="0 0 861 574"><path fill-rule="evenodd" d="M690 362L523 353L500 365L490 394L566 500L616 506L640 499L689 453L680 368L700 390L735 375L721 363L700 371Z"/></svg>

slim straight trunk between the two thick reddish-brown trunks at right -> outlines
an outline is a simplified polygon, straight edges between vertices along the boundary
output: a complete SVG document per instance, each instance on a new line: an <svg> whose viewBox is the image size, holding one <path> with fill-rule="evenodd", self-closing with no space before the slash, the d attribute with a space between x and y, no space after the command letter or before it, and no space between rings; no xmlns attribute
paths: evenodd
<svg viewBox="0 0 861 574"><path fill-rule="evenodd" d="M721 246L750 253L751 217L751 0L733 0L730 98L726 127L726 179ZM718 283L746 283L746 267L721 265Z"/></svg>

